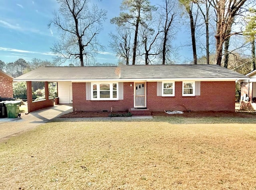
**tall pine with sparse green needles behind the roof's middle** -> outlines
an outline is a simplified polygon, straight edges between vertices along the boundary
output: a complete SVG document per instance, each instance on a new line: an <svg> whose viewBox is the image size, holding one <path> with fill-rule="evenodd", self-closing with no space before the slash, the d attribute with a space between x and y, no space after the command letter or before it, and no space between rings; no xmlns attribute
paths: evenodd
<svg viewBox="0 0 256 190"><path fill-rule="evenodd" d="M110 20L112 24L118 27L130 24L134 30L134 45L132 55L132 65L135 65L136 51L138 44L138 30L139 26L146 25L146 21L152 18L151 11L155 10L155 6L151 6L149 0L123 0L120 6L120 16L114 17Z"/></svg>

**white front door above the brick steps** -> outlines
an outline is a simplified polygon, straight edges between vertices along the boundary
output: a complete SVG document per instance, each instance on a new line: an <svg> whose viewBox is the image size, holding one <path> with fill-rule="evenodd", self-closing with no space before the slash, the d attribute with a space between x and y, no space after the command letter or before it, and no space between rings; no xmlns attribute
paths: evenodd
<svg viewBox="0 0 256 190"><path fill-rule="evenodd" d="M135 83L134 107L146 107L146 83Z"/></svg>

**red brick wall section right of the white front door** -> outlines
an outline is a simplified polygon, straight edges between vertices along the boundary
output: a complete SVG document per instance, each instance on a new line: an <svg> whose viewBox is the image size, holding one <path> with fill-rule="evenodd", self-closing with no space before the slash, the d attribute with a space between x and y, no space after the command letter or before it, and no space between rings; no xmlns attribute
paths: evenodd
<svg viewBox="0 0 256 190"><path fill-rule="evenodd" d="M182 96L182 82L175 82L175 96L156 96L156 82L147 83L147 107L152 111L234 111L235 82L201 82L200 96Z"/></svg>

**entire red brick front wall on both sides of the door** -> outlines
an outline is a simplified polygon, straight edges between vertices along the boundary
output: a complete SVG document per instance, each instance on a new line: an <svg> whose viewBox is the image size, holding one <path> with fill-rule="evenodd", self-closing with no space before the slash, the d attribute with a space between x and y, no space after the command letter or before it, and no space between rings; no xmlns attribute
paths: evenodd
<svg viewBox="0 0 256 190"><path fill-rule="evenodd" d="M175 83L175 97L156 95L156 82L147 82L147 107L152 111L234 111L235 82L201 82L200 96L182 96L182 82ZM72 83L73 110L77 111L124 111L134 107L133 85L124 83L124 100L86 100L86 84Z"/></svg>

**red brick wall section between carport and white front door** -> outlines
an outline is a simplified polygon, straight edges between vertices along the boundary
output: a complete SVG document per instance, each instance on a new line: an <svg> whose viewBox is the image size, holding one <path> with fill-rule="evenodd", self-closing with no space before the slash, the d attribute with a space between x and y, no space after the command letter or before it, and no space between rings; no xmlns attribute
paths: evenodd
<svg viewBox="0 0 256 190"><path fill-rule="evenodd" d="M72 83L73 111L125 111L133 107L133 85L124 83L124 100L86 100L85 83Z"/></svg>

